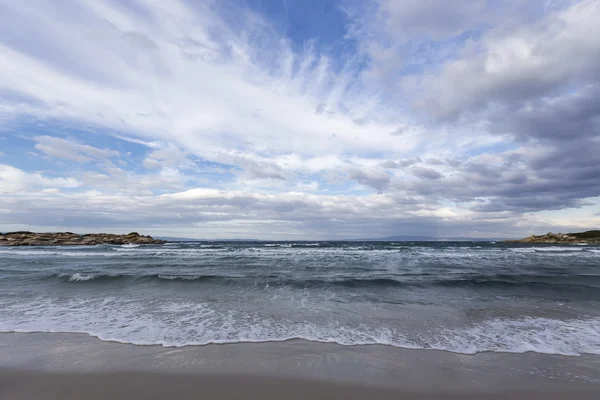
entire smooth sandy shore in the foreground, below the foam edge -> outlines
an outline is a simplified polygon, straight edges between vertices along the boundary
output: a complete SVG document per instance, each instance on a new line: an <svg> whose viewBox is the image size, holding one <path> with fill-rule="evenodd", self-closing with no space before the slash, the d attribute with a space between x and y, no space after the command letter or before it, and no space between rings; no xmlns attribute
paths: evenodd
<svg viewBox="0 0 600 400"><path fill-rule="evenodd" d="M1 399L368 396L600 398L600 356L464 355L301 340L164 348L84 334L0 333Z"/></svg>

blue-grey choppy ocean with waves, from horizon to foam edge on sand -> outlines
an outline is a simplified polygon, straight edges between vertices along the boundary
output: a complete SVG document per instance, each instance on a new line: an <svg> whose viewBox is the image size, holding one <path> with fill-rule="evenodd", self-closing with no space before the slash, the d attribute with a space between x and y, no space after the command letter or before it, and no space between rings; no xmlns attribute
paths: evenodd
<svg viewBox="0 0 600 400"><path fill-rule="evenodd" d="M462 354L600 354L600 247L0 247L0 331L165 347L304 339Z"/></svg>

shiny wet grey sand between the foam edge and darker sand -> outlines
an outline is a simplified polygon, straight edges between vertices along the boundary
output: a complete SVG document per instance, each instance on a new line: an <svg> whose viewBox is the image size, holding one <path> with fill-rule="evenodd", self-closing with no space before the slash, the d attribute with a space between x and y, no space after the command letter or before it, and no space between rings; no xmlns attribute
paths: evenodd
<svg viewBox="0 0 600 400"><path fill-rule="evenodd" d="M303 340L165 348L104 342L86 334L0 333L0 376L16 374L16 380L23 375L43 380L58 374L73 381L74 374L118 373L304 380L396 393L493 394L510 388L515 393L585 390L598 394L599 366L600 356L595 355L464 355Z"/></svg>

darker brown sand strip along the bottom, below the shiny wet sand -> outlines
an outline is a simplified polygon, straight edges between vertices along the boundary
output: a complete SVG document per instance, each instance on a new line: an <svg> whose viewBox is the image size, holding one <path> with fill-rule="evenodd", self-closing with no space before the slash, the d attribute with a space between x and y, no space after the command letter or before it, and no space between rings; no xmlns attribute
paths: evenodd
<svg viewBox="0 0 600 400"><path fill-rule="evenodd" d="M376 387L240 376L51 374L0 370L0 397L61 399L597 399L591 390L499 393L415 393Z"/></svg>

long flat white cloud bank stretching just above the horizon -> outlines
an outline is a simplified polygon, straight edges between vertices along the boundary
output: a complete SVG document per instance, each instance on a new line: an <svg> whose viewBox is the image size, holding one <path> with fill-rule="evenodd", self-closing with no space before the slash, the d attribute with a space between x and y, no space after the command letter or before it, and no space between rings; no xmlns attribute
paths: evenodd
<svg viewBox="0 0 600 400"><path fill-rule="evenodd" d="M16 204L21 207L15 208ZM497 237L507 230L529 232L532 226L544 226L543 219L527 216L527 226L515 228L523 224L523 217L424 205L419 199L391 194L323 196L197 188L132 197L101 191L44 191L6 194L0 197L0 209L6 208L14 211L5 219L4 227L14 226L19 221L44 230L49 227L103 230L109 227L119 231L136 226L152 230L153 234L176 231L198 236L198 232L202 232L202 235L215 238L356 238L365 234L414 234L427 232L432 227L445 235L460 232ZM45 217L40 219L40 215ZM557 221L563 226L578 226L577 221L571 225L560 218ZM598 217L593 217L586 221L586 226L592 221L600 222Z"/></svg>

